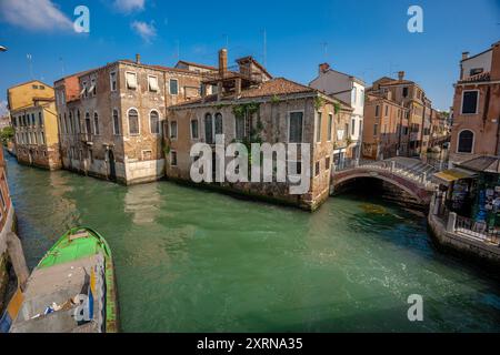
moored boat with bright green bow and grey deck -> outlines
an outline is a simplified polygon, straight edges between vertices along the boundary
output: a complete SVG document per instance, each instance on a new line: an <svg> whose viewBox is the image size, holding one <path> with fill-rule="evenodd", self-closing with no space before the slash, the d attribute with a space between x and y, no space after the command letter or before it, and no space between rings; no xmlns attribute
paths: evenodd
<svg viewBox="0 0 500 355"><path fill-rule="evenodd" d="M118 297L111 250L88 227L62 235L18 291L0 332L117 333Z"/></svg>

